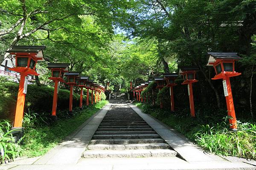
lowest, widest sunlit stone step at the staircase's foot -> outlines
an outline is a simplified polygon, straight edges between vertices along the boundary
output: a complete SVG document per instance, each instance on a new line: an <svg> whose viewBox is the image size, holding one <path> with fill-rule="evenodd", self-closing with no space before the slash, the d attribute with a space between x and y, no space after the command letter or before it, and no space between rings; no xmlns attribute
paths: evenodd
<svg viewBox="0 0 256 170"><path fill-rule="evenodd" d="M138 157L173 157L177 152L169 149L142 150L86 150L83 158L138 158Z"/></svg>

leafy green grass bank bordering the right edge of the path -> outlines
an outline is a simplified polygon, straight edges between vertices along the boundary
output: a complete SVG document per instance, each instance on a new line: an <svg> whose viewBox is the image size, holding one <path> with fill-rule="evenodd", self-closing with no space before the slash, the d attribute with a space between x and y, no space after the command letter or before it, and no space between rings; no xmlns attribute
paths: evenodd
<svg viewBox="0 0 256 170"><path fill-rule="evenodd" d="M256 123L239 122L237 131L230 130L225 111L222 114L202 113L191 118L187 109L171 112L151 105L136 103L137 107L163 123L175 128L210 153L236 156L246 159L256 158ZM219 111L221 112L221 111ZM212 116L211 116L212 115ZM222 116L222 117L220 117Z"/></svg>

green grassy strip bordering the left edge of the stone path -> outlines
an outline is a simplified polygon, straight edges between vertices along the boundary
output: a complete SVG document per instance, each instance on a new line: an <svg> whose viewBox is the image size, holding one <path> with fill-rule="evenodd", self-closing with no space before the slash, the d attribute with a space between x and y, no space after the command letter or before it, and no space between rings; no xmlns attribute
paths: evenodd
<svg viewBox="0 0 256 170"><path fill-rule="evenodd" d="M73 111L73 117L58 119L58 122L52 126L42 123L27 124L25 126L21 156L35 157L44 155L107 103L108 101L102 100L96 105L89 106L81 111L77 108Z"/></svg>

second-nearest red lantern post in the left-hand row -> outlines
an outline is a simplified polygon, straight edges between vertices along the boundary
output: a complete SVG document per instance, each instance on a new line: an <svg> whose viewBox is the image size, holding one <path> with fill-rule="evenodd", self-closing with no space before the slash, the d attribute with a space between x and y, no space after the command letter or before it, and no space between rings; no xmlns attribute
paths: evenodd
<svg viewBox="0 0 256 170"><path fill-rule="evenodd" d="M57 101L58 101L58 89L59 82L65 82L63 79L64 73L67 73L68 63L48 63L48 69L52 71L52 77L49 79L54 81L54 92L52 100L52 117L54 120L57 120L56 110L57 110Z"/></svg>

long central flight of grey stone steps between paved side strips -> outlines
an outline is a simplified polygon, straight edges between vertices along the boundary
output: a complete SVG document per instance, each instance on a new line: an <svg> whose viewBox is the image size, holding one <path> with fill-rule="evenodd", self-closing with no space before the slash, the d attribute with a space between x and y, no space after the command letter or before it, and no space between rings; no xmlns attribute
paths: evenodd
<svg viewBox="0 0 256 170"><path fill-rule="evenodd" d="M134 158L176 155L169 144L128 105L113 104L82 157Z"/></svg>

